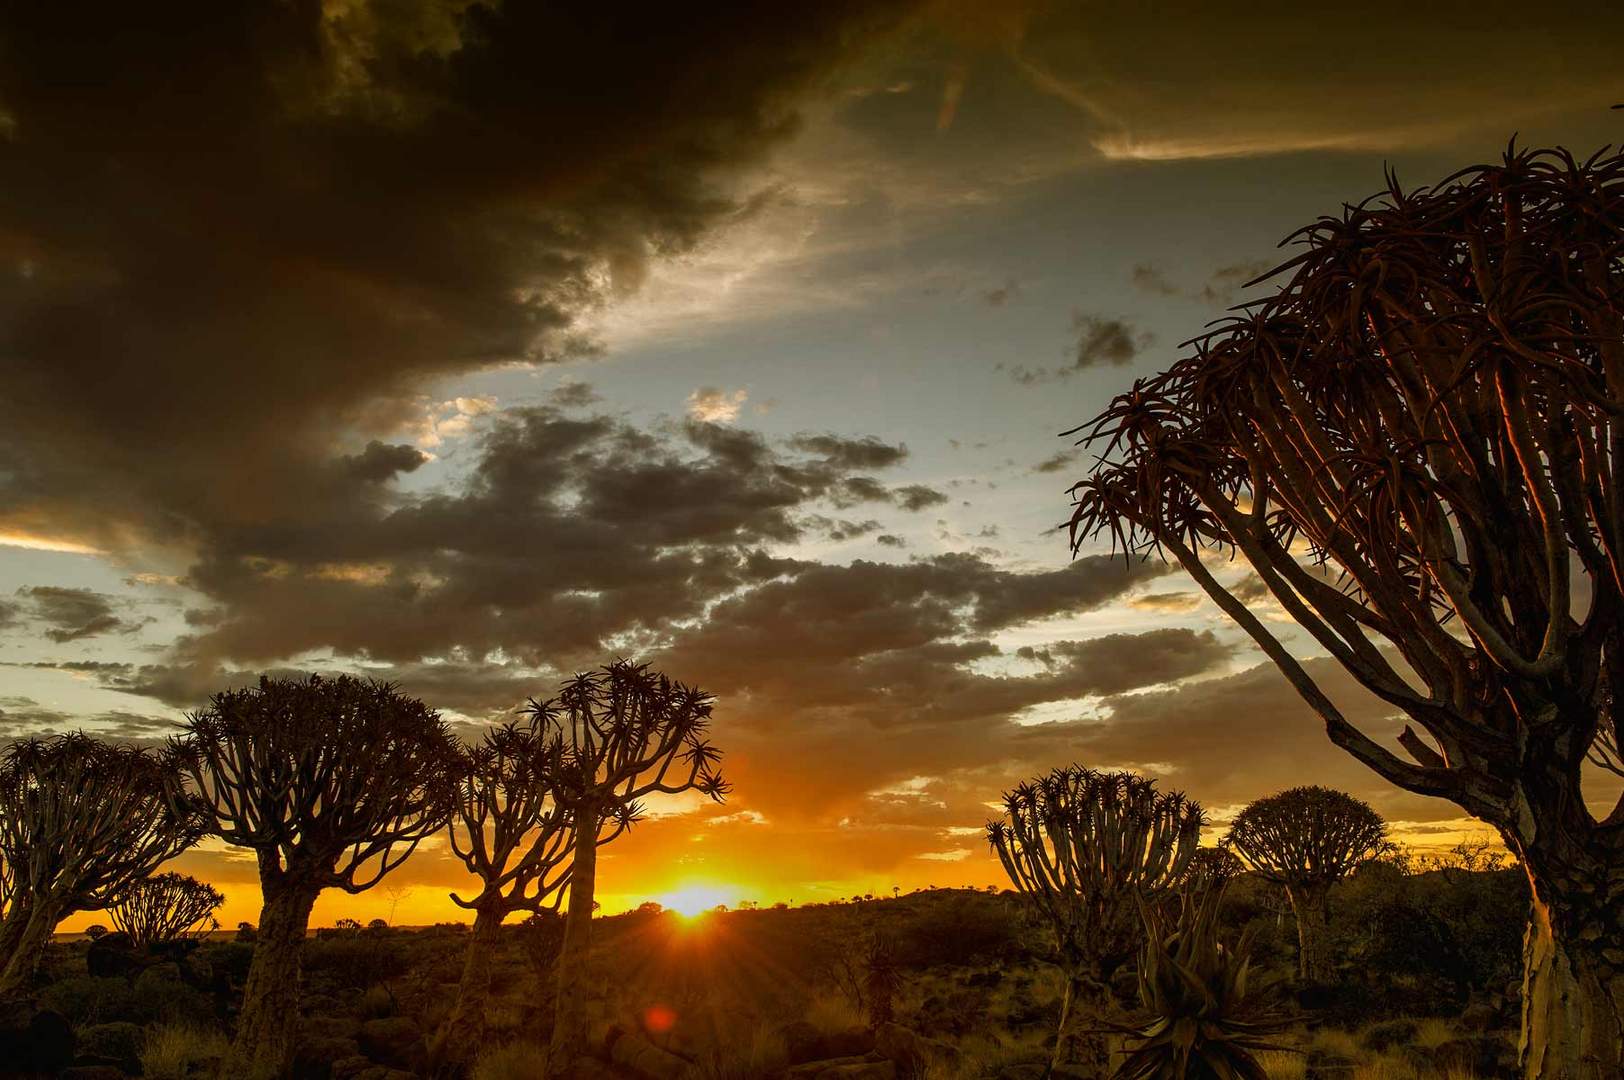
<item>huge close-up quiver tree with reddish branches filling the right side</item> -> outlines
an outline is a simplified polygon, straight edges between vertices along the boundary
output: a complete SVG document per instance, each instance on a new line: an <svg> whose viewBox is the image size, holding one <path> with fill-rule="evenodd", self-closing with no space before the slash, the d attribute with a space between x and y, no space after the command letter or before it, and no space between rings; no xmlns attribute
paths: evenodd
<svg viewBox="0 0 1624 1080"><path fill-rule="evenodd" d="M1580 765L1624 679L1624 156L1512 149L1294 239L1273 296L1078 429L1073 546L1176 557L1337 745L1497 828L1533 892L1523 1072L1621 1075L1624 804L1593 817ZM1236 551L1398 747L1203 559Z"/></svg>

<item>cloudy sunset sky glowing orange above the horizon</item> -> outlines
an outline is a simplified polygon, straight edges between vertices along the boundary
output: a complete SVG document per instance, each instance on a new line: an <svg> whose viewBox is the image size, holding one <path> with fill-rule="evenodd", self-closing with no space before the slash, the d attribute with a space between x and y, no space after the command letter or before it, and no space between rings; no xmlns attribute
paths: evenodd
<svg viewBox="0 0 1624 1080"><path fill-rule="evenodd" d="M156 745L263 671L390 679L474 737L648 659L718 697L734 791L606 848L609 911L996 883L999 794L1069 762L1210 838L1299 783L1478 833L1332 747L1181 572L1073 555L1060 432L1384 171L1624 138L1621 32L1497 0L15 5L0 737ZM248 853L177 867L257 919ZM435 840L315 921L456 919L461 885Z"/></svg>

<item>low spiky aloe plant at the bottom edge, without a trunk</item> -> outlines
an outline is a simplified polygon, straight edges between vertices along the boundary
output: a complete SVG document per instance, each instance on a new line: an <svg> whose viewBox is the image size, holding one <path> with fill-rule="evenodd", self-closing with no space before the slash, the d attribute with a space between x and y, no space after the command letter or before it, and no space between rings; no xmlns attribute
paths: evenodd
<svg viewBox="0 0 1624 1080"><path fill-rule="evenodd" d="M1289 1023L1270 987L1250 978L1252 929L1236 945L1218 939L1221 885L1189 890L1177 921L1140 901L1145 947L1140 1012L1116 1080L1268 1080L1255 1052L1285 1049L1268 1036Z"/></svg>

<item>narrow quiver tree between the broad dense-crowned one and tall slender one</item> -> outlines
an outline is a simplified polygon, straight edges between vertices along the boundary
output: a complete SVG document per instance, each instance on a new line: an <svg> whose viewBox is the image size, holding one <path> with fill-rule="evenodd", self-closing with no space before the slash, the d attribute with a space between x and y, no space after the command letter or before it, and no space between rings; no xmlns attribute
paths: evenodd
<svg viewBox="0 0 1624 1080"><path fill-rule="evenodd" d="M456 1005L435 1054L463 1064L484 1035L490 960L502 921L516 913L555 914L573 856L570 815L552 797L564 742L541 724L503 724L463 755L451 804L451 851L477 880L469 898L451 901L474 913Z"/></svg>

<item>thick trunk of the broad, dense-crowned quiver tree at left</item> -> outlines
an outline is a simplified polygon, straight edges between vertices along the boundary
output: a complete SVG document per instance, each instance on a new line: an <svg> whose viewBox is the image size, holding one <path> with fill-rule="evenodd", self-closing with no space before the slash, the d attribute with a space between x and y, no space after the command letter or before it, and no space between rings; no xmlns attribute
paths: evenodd
<svg viewBox="0 0 1624 1080"><path fill-rule="evenodd" d="M299 1023L299 957L318 890L268 890L224 1075L279 1075Z"/></svg>

